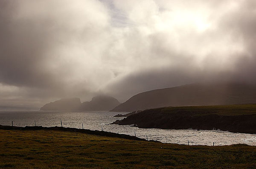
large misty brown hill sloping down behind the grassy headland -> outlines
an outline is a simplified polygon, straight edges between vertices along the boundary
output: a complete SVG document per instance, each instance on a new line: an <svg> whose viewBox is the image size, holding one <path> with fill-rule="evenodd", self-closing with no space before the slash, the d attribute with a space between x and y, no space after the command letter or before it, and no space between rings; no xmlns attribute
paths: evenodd
<svg viewBox="0 0 256 169"><path fill-rule="evenodd" d="M256 103L255 85L192 84L139 93L111 111L131 112L166 106L245 103Z"/></svg>

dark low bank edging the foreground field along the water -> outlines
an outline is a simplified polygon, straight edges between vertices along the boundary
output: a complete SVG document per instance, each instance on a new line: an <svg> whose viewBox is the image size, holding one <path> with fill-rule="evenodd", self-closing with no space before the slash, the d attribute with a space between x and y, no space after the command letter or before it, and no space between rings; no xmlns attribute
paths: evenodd
<svg viewBox="0 0 256 169"><path fill-rule="evenodd" d="M116 137L116 138L125 138L129 140L145 141L145 139L137 138L131 135L117 134L114 132L106 132L106 131L98 131L98 130L77 129L77 128L70 128L70 127L57 127L57 126L55 127L42 127L42 126L17 127L17 126L0 125L0 129L2 130L55 130L55 131L81 132L81 133L99 135L99 136L105 136L105 137Z"/></svg>

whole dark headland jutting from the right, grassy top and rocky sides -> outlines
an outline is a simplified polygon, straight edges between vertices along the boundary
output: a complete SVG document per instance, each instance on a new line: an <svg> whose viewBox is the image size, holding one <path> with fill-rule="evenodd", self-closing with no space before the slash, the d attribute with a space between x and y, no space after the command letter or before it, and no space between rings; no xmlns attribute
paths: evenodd
<svg viewBox="0 0 256 169"><path fill-rule="evenodd" d="M162 107L130 115L113 124L140 128L223 130L256 133L256 104Z"/></svg>

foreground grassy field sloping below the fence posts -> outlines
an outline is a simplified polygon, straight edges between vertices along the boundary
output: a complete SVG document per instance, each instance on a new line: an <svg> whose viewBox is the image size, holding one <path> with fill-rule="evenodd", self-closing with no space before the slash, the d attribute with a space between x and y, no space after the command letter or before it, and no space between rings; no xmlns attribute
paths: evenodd
<svg viewBox="0 0 256 169"><path fill-rule="evenodd" d="M256 147L186 146L54 130L0 130L0 169L255 169Z"/></svg>

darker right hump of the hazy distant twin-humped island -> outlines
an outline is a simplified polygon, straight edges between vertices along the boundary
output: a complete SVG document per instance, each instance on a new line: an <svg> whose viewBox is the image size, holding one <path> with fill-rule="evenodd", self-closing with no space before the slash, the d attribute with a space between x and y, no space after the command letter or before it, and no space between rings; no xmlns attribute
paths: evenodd
<svg viewBox="0 0 256 169"><path fill-rule="evenodd" d="M85 110L90 110L90 111L99 111L99 110L111 110L117 105L119 105L120 102L110 96L96 96L93 97L91 101L86 101L81 104L79 107L79 110L85 111Z"/></svg>

